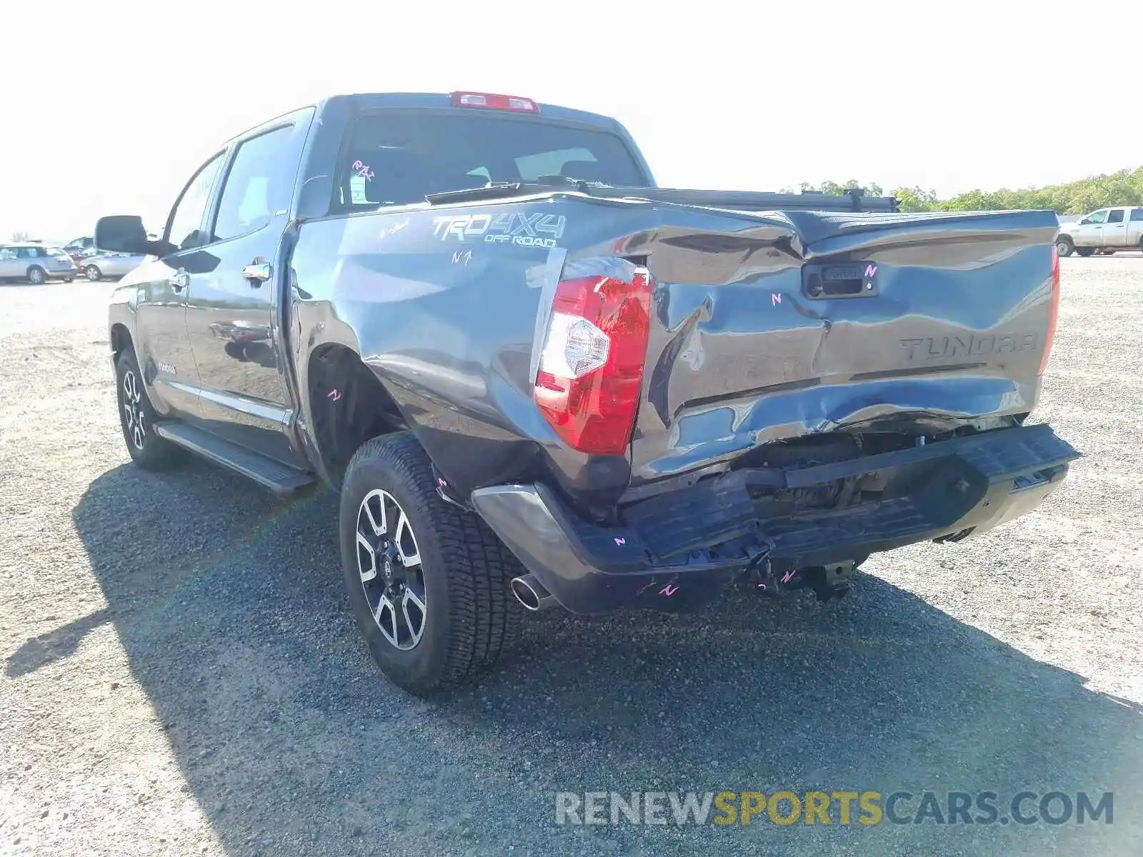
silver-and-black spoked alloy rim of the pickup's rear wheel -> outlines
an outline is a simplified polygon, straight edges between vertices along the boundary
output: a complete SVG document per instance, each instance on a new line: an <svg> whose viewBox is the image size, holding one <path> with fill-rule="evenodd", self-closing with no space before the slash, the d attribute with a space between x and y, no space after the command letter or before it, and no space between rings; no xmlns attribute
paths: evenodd
<svg viewBox="0 0 1143 857"><path fill-rule="evenodd" d="M409 518L389 491L369 491L358 507L357 560L382 635L403 651L415 648L427 619L424 569Z"/></svg>

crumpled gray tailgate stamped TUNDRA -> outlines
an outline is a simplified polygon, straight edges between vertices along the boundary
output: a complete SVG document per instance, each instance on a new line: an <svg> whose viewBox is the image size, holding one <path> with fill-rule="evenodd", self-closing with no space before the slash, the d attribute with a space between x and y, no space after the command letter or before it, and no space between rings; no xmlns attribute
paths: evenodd
<svg viewBox="0 0 1143 857"><path fill-rule="evenodd" d="M656 282L632 486L839 426L1034 406L1054 213L658 213L614 248Z"/></svg>

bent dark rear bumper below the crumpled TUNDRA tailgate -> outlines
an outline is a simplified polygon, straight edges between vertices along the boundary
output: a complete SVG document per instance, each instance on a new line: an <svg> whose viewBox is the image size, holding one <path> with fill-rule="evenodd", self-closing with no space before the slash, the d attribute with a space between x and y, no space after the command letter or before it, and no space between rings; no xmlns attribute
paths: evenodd
<svg viewBox="0 0 1143 857"><path fill-rule="evenodd" d="M762 552L776 568L798 569L985 532L1040 505L1079 456L1034 425L792 468L778 475L784 489L856 476L894 488L876 502L773 516L760 513L751 470L629 507L618 527L582 520L543 484L481 488L472 504L572 612L679 610L709 601Z"/></svg>

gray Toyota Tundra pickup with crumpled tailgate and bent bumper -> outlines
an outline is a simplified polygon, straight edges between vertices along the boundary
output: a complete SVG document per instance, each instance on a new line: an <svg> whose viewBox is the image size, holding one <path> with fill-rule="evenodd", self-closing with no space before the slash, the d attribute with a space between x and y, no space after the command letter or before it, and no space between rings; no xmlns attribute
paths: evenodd
<svg viewBox="0 0 1143 857"><path fill-rule="evenodd" d="M527 610L842 594L1039 505L1050 211L656 187L616 121L336 96L210 153L110 334L131 458L341 492L349 601L430 694Z"/></svg>

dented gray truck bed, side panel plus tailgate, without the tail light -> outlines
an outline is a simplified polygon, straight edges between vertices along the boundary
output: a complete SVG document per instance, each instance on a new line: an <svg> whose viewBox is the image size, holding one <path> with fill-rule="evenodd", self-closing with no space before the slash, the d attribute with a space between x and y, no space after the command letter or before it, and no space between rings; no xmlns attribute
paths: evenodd
<svg viewBox="0 0 1143 857"><path fill-rule="evenodd" d="M305 390L317 350L357 351L462 494L538 480L596 506L774 440L1028 413L1057 227L1050 211L785 215L569 192L321 218L293 253L294 357ZM561 272L618 256L655 280L644 402L629 456L584 456L531 384ZM807 297L804 264L852 261L876 265L876 294Z"/></svg>

